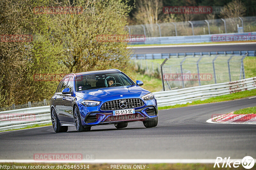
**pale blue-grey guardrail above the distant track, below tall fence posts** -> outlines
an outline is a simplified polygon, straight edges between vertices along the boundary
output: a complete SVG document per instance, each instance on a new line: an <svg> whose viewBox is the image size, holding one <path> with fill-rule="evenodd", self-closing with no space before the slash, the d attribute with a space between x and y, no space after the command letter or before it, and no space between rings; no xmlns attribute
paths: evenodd
<svg viewBox="0 0 256 170"><path fill-rule="evenodd" d="M227 33L227 34L207 34L188 35L172 37L147 37L143 41L130 41L130 45L142 44L184 44L184 43L204 43L204 42L227 42L227 41L255 41L256 32Z"/></svg>

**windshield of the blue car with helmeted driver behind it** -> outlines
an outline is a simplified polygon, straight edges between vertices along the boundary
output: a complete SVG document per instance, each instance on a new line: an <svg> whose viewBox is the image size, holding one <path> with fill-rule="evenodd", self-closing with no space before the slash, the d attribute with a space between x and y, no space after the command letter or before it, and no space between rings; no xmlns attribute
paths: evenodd
<svg viewBox="0 0 256 170"><path fill-rule="evenodd" d="M91 74L76 77L76 91L129 85L133 84L122 73Z"/></svg>

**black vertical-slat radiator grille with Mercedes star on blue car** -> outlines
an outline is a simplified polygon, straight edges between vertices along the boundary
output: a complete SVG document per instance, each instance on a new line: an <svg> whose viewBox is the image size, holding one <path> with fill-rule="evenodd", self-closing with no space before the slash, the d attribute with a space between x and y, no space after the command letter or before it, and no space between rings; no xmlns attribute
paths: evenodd
<svg viewBox="0 0 256 170"><path fill-rule="evenodd" d="M121 108L119 106L119 103L121 101L125 101L127 103L126 108ZM121 100L112 100L109 102L105 102L102 104L101 106L101 110L121 110L121 109L129 109L129 108L136 108L136 107L140 107L143 106L144 102L141 99L121 99Z"/></svg>

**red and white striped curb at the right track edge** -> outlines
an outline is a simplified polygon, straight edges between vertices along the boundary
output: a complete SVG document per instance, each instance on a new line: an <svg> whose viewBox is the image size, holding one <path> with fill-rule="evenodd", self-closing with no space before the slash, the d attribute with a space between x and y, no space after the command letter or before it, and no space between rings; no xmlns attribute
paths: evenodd
<svg viewBox="0 0 256 170"><path fill-rule="evenodd" d="M208 119L208 123L256 124L256 114L238 115L230 112Z"/></svg>

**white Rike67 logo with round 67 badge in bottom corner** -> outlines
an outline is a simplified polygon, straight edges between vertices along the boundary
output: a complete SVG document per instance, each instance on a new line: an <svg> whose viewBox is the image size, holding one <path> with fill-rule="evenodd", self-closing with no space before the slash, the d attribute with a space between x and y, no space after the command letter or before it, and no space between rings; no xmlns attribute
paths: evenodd
<svg viewBox="0 0 256 170"><path fill-rule="evenodd" d="M220 165L219 165L220 164ZM230 157L228 157L228 159L225 157L224 159L222 159L221 157L217 157L215 160L215 164L214 164L214 168L217 167L219 168L221 165L221 167L230 167L233 164L234 168L239 167L241 164L245 169L251 169L254 166L254 159L251 156L245 156L242 161L240 160L230 160Z"/></svg>

